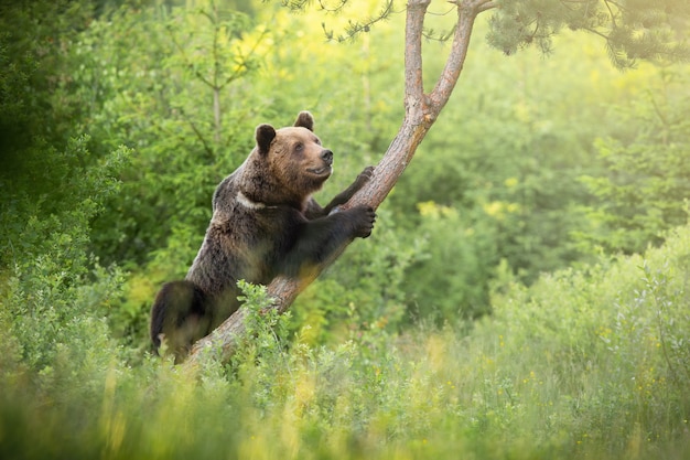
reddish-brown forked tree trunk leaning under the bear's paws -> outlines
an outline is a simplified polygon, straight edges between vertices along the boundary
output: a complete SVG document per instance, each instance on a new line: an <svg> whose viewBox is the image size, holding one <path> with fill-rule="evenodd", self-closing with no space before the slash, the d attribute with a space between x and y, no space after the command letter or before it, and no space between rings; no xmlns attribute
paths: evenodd
<svg viewBox="0 0 690 460"><path fill-rule="evenodd" d="M457 24L453 35L451 52L445 67L433 90L424 94L422 75L422 34L424 15L431 0L408 0L406 18L405 46L405 119L386 154L374 171L371 180L359 190L342 208L367 205L377 208L388 196L393 185L412 160L417 147L436 120L448 103L467 55L470 38L474 20L478 13L495 8L490 0L456 0ZM291 279L279 277L268 286L268 293L274 299L273 307L280 313L287 311L297 296L328 267L342 253L341 248L330 260L326 260L308 277ZM244 309L235 312L208 336L196 342L186 364L198 362L203 350L217 347L222 360L228 360L236 350L237 338L245 331Z"/></svg>

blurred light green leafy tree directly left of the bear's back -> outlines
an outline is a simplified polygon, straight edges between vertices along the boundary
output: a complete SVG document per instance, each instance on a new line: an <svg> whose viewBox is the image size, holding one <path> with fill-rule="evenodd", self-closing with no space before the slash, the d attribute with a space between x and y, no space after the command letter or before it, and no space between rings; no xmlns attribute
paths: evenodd
<svg viewBox="0 0 690 460"><path fill-rule="evenodd" d="M117 212L95 223L95 248L104 260L137 267L155 250L163 278L188 266L213 189L251 148L256 107L242 85L260 67L257 46L267 36L219 2L196 3L122 8L93 24L75 53L88 60L74 76L86 94L72 96L96 104L88 119L95 143L137 150L109 204Z"/></svg>

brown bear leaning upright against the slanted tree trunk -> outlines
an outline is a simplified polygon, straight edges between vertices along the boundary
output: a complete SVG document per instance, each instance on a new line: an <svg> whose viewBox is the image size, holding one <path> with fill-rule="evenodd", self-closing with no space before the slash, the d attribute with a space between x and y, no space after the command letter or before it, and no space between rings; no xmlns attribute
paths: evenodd
<svg viewBox="0 0 690 460"><path fill-rule="evenodd" d="M238 280L268 285L280 275L299 277L355 237L371 234L373 208L336 210L370 179L371 167L325 207L311 196L333 171L333 152L313 128L308 111L292 127L257 127L256 147L213 195L211 224L185 279L163 285L155 297L155 351L164 338L175 361L183 360L195 341L239 308Z"/></svg>

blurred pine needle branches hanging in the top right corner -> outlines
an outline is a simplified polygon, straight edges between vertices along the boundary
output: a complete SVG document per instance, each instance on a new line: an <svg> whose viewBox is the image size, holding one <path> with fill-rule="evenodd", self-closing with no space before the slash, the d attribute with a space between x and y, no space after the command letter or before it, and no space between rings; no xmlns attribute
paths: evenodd
<svg viewBox="0 0 690 460"><path fill-rule="evenodd" d="M507 55L532 44L549 53L553 35L569 28L602 38L617 67L633 67L639 60L677 62L690 57L681 32L690 19L690 8L683 1L521 0L498 4L487 39Z"/></svg>

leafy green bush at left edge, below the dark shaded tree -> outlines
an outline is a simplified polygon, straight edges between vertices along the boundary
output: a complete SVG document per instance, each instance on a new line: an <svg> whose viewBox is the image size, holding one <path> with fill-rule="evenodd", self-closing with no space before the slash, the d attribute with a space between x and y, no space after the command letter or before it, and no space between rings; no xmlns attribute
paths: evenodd
<svg viewBox="0 0 690 460"><path fill-rule="evenodd" d="M48 366L75 341L106 340L101 320L122 282L117 268L101 268L89 254L89 223L118 191L114 175L128 152L120 149L82 168L90 163L87 142L73 139L62 152L40 146L46 160L33 168L34 178L58 179L61 186L29 195L18 180L17 192L2 203L1 314L31 367Z"/></svg>

